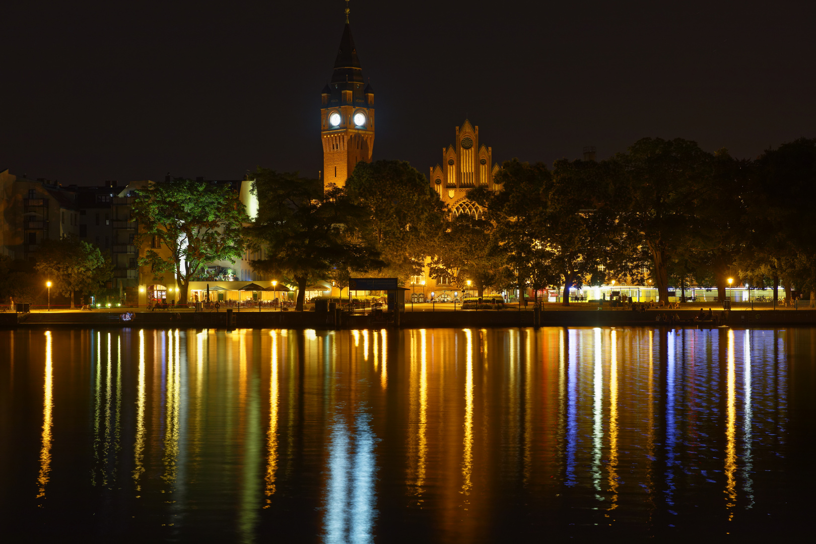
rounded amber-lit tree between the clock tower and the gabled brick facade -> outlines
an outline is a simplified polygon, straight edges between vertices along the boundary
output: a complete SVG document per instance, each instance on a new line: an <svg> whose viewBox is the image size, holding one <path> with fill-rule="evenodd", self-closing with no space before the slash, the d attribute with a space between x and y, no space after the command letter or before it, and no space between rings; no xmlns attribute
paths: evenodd
<svg viewBox="0 0 816 544"><path fill-rule="evenodd" d="M401 281L419 273L446 228L445 206L428 179L405 161L361 162L346 188L369 211L366 236L388 263L381 273Z"/></svg>

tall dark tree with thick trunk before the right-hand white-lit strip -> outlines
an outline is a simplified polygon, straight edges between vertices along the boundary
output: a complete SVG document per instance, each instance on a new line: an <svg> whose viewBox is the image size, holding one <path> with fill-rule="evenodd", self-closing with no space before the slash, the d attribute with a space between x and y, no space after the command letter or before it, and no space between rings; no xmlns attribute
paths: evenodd
<svg viewBox="0 0 816 544"><path fill-rule="evenodd" d="M668 268L698 242L695 209L711 197L712 156L685 139L639 139L615 157L615 183L627 188L621 226L649 250L660 300L668 300Z"/></svg>

